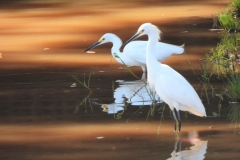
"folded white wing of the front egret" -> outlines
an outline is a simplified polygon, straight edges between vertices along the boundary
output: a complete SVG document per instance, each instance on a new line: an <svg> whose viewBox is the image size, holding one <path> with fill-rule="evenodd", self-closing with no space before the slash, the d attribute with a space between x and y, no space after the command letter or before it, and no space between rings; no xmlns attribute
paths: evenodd
<svg viewBox="0 0 240 160"><path fill-rule="evenodd" d="M156 91L164 93L170 101L176 101L182 107L189 106L189 112L204 116L205 109L196 91L182 75L170 67L165 73L160 74L156 83Z"/></svg>

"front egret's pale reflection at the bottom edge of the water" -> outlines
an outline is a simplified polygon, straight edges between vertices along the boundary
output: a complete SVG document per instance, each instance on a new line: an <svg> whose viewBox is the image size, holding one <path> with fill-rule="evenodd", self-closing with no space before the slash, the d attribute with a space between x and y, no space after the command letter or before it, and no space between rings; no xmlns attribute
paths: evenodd
<svg viewBox="0 0 240 160"><path fill-rule="evenodd" d="M180 142L179 142L180 141ZM181 142L190 142L193 146L189 150L181 151ZM207 150L207 141L202 141L199 139L197 132L189 132L188 138L176 139L174 150L171 153L171 158L167 160L203 160L205 158ZM178 148L179 145L179 148ZM179 151L177 152L177 148Z"/></svg>

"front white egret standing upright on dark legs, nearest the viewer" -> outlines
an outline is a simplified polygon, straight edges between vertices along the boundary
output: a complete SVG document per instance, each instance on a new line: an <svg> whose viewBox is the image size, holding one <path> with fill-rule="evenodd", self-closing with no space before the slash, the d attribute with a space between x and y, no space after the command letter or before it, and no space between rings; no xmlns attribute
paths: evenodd
<svg viewBox="0 0 240 160"><path fill-rule="evenodd" d="M176 122L178 122L178 132L180 132L181 120L179 110L188 111L201 117L206 116L206 112L202 101L189 82L168 65L159 63L154 56L158 52L155 45L160 39L160 33L161 31L155 25L144 23L126 44L142 35L148 35L146 50L148 82L151 89L155 90L158 96L169 105L175 120L174 131L176 131ZM177 112L177 116L174 109Z"/></svg>

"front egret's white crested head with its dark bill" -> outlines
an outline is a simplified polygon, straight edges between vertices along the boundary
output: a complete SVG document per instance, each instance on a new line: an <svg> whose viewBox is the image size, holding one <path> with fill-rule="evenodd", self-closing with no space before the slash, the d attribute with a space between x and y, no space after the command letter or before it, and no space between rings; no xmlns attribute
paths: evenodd
<svg viewBox="0 0 240 160"><path fill-rule="evenodd" d="M142 24L139 28L138 28L138 31L137 33L132 36L126 43L128 44L129 42L131 42L132 40L138 38L138 37L141 37L143 35L149 35L149 34L155 34L157 35L158 37L158 40L160 39L160 34L161 34L161 31L157 28L157 26L151 24L151 23L144 23Z"/></svg>

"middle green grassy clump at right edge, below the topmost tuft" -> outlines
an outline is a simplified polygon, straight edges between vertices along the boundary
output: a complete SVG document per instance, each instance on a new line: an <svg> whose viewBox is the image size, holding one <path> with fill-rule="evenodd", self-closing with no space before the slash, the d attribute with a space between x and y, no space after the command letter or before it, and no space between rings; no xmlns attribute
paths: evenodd
<svg viewBox="0 0 240 160"><path fill-rule="evenodd" d="M238 53L240 34L230 35L224 32L215 49L206 54L204 59L203 78L209 81L212 74L225 77L227 74L237 72L236 55ZM209 72L210 71L210 72Z"/></svg>

